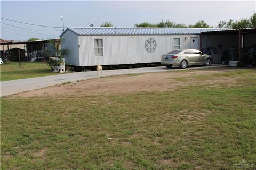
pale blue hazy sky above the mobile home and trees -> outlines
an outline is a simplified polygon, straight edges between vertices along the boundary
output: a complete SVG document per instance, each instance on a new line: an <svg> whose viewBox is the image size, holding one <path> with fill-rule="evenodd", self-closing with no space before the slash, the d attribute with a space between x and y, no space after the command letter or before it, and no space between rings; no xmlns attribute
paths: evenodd
<svg viewBox="0 0 256 170"><path fill-rule="evenodd" d="M204 20L217 27L221 20L250 18L254 1L0 1L1 38L28 40L58 38L64 27L99 27L105 21L114 27L135 23L159 23L170 19L186 25ZM60 19L63 16L63 20ZM24 23L45 25L49 28Z"/></svg>

